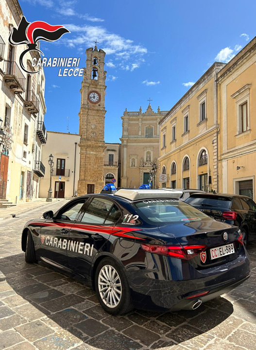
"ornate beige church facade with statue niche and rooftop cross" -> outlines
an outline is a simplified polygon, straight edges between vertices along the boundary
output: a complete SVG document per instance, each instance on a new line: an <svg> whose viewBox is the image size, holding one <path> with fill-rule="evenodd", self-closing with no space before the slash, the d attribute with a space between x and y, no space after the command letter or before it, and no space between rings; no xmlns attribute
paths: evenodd
<svg viewBox="0 0 256 350"><path fill-rule="evenodd" d="M159 107L155 113L151 105L144 113L141 107L138 111L124 111L120 138L121 187L138 188L151 182L153 188L158 188L159 121L166 114Z"/></svg>

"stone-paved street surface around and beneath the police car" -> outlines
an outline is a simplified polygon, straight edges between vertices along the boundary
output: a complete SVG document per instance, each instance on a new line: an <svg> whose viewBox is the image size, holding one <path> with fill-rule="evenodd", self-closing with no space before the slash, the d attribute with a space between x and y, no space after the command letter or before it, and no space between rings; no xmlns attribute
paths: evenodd
<svg viewBox="0 0 256 350"><path fill-rule="evenodd" d="M52 203L57 210L64 202ZM256 244L251 277L195 311L111 316L95 293L43 263L27 264L24 223L44 211L0 222L0 349L9 350L254 350Z"/></svg>

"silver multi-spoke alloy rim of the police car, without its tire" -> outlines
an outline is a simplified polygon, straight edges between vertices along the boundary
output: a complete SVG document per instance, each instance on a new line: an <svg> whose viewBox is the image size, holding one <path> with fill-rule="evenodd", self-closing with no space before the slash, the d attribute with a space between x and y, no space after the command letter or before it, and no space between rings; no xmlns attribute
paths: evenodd
<svg viewBox="0 0 256 350"><path fill-rule="evenodd" d="M98 277L98 288L103 303L109 308L119 305L122 285L117 270L111 265L104 265Z"/></svg>

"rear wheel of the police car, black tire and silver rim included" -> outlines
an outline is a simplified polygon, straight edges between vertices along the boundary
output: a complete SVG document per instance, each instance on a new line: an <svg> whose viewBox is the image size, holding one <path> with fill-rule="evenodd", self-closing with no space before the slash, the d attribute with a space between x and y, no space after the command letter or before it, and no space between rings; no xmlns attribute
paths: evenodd
<svg viewBox="0 0 256 350"><path fill-rule="evenodd" d="M118 262L104 258L95 273L95 290L102 308L112 315L122 315L133 309L131 290Z"/></svg>

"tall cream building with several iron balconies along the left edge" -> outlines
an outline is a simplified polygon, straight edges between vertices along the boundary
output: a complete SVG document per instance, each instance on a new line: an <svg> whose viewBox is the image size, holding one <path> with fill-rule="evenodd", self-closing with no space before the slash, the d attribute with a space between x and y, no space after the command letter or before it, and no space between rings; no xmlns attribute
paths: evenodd
<svg viewBox="0 0 256 350"><path fill-rule="evenodd" d="M47 141L44 126L44 71L26 73L19 65L24 44L8 42L18 26L22 10L17 0L0 3L0 199L24 202L38 197L39 180L45 167L42 144ZM25 68L34 71L36 51L26 54Z"/></svg>

